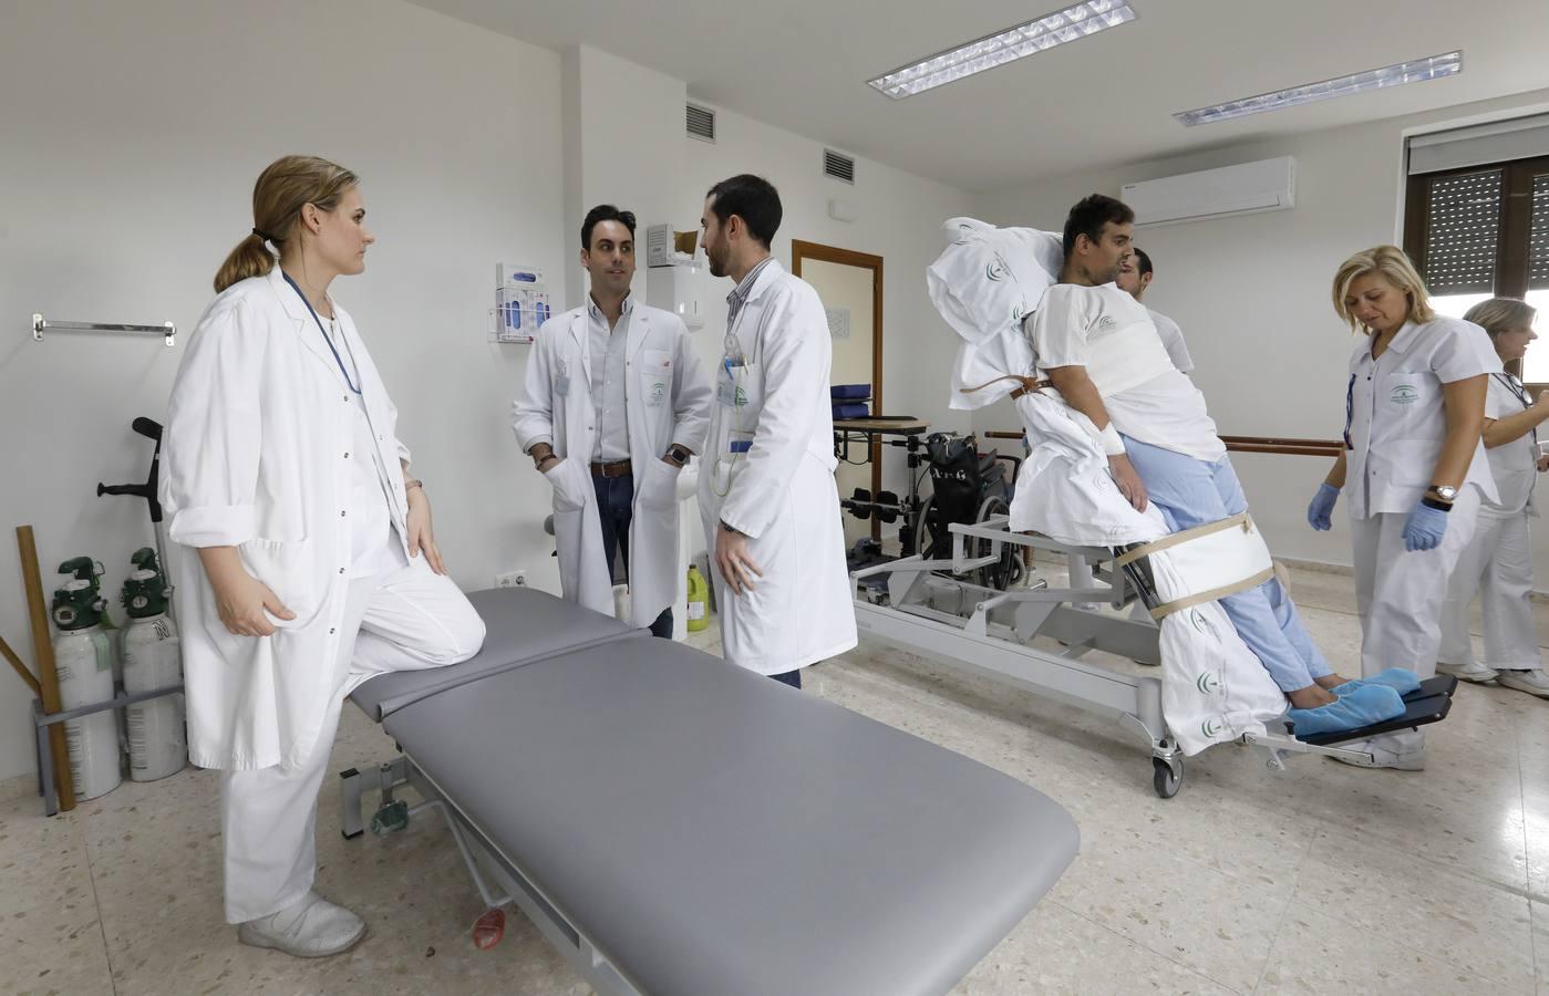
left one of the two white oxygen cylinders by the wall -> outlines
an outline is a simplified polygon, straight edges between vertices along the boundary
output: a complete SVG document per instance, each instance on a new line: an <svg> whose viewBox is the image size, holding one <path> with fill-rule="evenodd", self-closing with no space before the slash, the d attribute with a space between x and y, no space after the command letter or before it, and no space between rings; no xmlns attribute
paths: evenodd
<svg viewBox="0 0 1549 996"><path fill-rule="evenodd" d="M98 593L96 562L76 558L59 565L73 575L54 592L53 618L54 668L59 672L59 705L77 709L113 697L113 643L102 629L107 603ZM105 709L65 722L70 776L77 799L94 799L118 788L119 770L118 713Z"/></svg>

